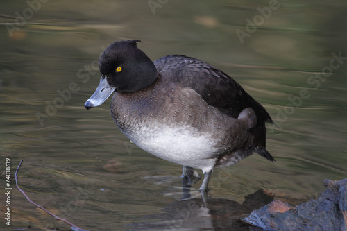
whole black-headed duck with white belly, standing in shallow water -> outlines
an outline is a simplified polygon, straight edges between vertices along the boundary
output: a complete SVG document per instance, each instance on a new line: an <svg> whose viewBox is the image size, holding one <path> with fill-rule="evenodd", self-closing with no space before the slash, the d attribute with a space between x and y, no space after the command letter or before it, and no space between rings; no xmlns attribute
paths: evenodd
<svg viewBox="0 0 347 231"><path fill-rule="evenodd" d="M201 169L201 193L216 168L253 153L275 162L266 150L265 126L274 122L239 83L185 55L153 62L139 42L117 41L101 53L99 86L85 108L113 94L110 112L119 130L144 151L183 165L187 177Z"/></svg>

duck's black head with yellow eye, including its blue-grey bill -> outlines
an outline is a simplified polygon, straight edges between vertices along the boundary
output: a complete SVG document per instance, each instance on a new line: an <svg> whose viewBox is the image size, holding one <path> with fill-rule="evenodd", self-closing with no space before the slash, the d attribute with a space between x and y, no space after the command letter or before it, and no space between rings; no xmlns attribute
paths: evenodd
<svg viewBox="0 0 347 231"><path fill-rule="evenodd" d="M136 42L141 41L114 42L103 51L99 59L100 83L85 108L101 105L113 92L138 92L154 83L157 69Z"/></svg>

